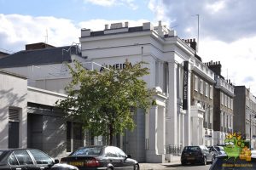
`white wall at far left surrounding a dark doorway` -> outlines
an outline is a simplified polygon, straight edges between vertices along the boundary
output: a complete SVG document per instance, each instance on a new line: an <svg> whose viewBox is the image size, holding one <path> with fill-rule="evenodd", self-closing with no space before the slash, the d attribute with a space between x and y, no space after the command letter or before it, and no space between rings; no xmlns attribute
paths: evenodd
<svg viewBox="0 0 256 170"><path fill-rule="evenodd" d="M0 148L9 147L9 107L17 107L20 109L19 146L26 147L26 77L0 71L0 82Z"/></svg>

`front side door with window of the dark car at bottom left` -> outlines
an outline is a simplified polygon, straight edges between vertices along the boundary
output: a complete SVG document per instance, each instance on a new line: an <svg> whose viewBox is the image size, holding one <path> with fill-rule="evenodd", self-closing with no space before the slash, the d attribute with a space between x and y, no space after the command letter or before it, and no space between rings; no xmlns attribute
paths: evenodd
<svg viewBox="0 0 256 170"><path fill-rule="evenodd" d="M39 167L40 169L48 170L51 166L54 165L54 161L52 160L52 158L46 155L41 150L31 149L28 150L28 153L31 154L32 158L37 164L37 167Z"/></svg>

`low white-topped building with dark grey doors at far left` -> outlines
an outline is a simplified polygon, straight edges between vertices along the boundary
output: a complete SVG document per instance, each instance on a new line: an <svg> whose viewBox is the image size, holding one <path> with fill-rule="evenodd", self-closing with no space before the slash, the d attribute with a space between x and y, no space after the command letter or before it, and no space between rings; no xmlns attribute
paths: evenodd
<svg viewBox="0 0 256 170"><path fill-rule="evenodd" d="M8 71L0 70L0 80L0 148L26 148L40 144L36 148L44 150L50 156L66 156L66 122L54 112L32 112L28 104L52 107L57 99L65 99L67 96L29 87L26 77ZM12 111L15 114L11 114ZM32 116L41 119L42 124L34 122L38 119L29 119ZM15 130L10 129L13 123L18 124ZM13 145L15 139L19 142Z"/></svg>

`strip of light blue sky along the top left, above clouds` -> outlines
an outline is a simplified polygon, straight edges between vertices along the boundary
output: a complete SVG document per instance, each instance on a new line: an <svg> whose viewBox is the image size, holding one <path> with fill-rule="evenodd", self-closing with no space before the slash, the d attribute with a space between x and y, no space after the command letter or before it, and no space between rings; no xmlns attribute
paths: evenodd
<svg viewBox="0 0 256 170"><path fill-rule="evenodd" d="M14 5L15 4L15 5ZM147 19L154 17L148 1L140 0L136 9L127 3L113 5L98 5L83 0L0 0L0 11L3 14L24 14L32 16L55 16L74 22L92 19L125 20ZM146 8L145 8L146 7ZM124 12L125 11L125 12Z"/></svg>

